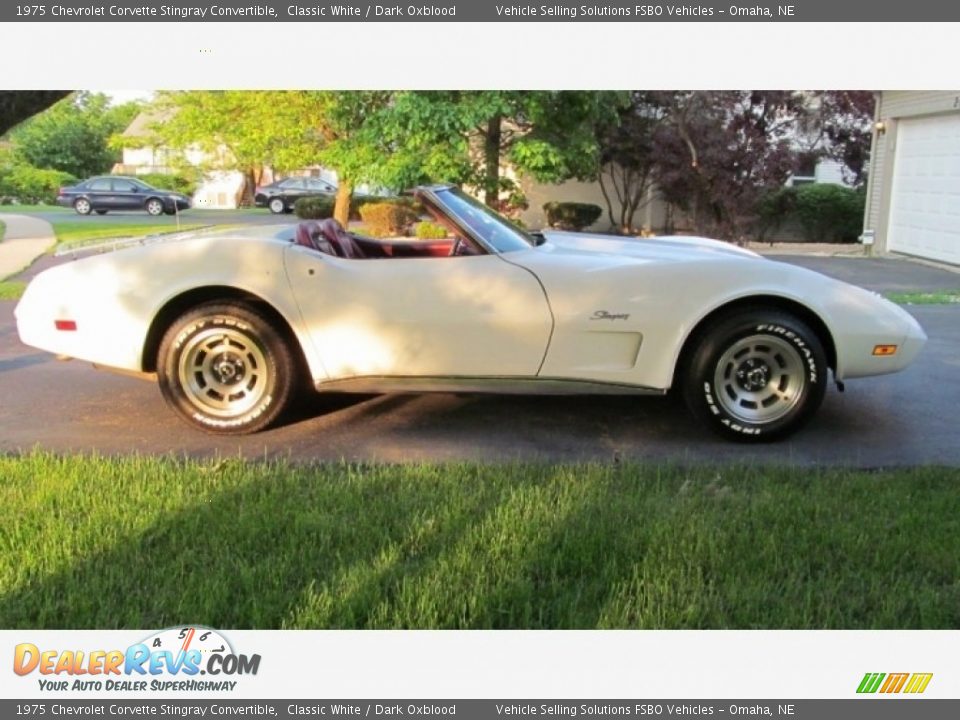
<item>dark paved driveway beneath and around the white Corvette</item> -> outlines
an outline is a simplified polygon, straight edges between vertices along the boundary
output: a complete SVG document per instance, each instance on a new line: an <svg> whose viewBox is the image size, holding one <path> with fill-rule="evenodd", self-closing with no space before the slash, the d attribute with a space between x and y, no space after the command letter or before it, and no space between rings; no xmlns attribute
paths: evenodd
<svg viewBox="0 0 960 720"><path fill-rule="evenodd" d="M960 286L960 275L904 260L779 259L876 290ZM930 336L915 365L898 375L851 381L843 394L831 388L805 430L787 441L756 447L717 439L669 397L319 396L282 427L240 439L218 438L181 423L152 383L96 371L85 363L58 362L21 345L13 306L0 302L0 451L40 447L305 461L620 457L731 466L754 461L960 465L953 417L960 407L956 306L909 308Z"/></svg>

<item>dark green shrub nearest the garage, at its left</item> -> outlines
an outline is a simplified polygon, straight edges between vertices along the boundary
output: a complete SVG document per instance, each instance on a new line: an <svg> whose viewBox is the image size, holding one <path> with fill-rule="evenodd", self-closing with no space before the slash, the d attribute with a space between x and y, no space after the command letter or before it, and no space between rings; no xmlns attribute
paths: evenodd
<svg viewBox="0 0 960 720"><path fill-rule="evenodd" d="M794 213L810 242L856 242L863 229L866 192L842 185L797 188Z"/></svg>

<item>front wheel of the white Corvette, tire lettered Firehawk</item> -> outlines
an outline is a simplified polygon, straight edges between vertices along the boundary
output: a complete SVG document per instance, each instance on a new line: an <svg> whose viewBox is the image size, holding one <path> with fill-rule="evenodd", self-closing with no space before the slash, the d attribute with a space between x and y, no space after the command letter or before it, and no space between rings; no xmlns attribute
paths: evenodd
<svg viewBox="0 0 960 720"><path fill-rule="evenodd" d="M695 342L684 399L721 435L775 440L798 430L820 407L827 372L823 344L801 320L778 311L745 311Z"/></svg>

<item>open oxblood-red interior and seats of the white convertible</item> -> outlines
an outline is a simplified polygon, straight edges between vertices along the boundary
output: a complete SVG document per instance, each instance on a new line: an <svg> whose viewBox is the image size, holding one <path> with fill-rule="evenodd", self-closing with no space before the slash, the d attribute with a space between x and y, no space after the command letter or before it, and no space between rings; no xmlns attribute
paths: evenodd
<svg viewBox="0 0 960 720"><path fill-rule="evenodd" d="M293 242L297 245L347 260L383 260L390 258L455 257L479 255L473 244L459 236L442 240L376 240L347 232L329 218L308 220L297 225Z"/></svg>

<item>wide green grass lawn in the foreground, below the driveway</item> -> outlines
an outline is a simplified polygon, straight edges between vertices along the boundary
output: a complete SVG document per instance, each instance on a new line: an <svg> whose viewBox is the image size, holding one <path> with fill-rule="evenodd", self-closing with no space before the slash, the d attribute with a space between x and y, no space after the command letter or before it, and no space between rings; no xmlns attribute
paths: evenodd
<svg viewBox="0 0 960 720"><path fill-rule="evenodd" d="M955 628L960 470L0 457L0 627Z"/></svg>

